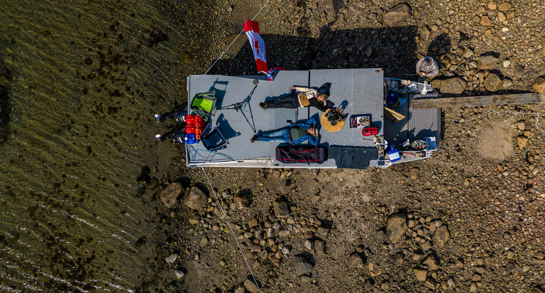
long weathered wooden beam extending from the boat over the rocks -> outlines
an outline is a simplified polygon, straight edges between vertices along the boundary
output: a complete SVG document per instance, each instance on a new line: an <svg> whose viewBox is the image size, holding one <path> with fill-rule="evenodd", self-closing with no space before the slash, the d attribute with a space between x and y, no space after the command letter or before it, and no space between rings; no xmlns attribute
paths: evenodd
<svg viewBox="0 0 545 293"><path fill-rule="evenodd" d="M435 99L413 99L414 109L447 108L447 107L473 107L485 105L508 105L541 102L538 93L492 95L492 96L464 96L464 97L438 97Z"/></svg>

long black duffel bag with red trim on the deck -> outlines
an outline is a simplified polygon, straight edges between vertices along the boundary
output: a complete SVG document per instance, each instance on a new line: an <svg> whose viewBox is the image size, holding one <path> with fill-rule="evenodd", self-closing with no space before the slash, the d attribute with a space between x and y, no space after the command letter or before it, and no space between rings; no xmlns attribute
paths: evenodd
<svg viewBox="0 0 545 293"><path fill-rule="evenodd" d="M276 160L284 164L321 164L328 160L328 149L312 145L286 145L276 148Z"/></svg>

